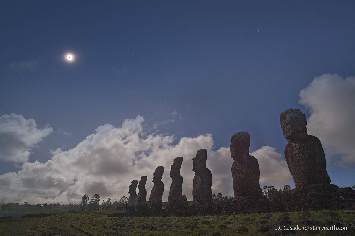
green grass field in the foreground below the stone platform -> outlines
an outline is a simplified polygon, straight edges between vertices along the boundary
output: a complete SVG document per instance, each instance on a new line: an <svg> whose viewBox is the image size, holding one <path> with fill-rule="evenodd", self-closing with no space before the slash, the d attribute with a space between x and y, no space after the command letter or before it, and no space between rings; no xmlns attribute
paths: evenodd
<svg viewBox="0 0 355 236"><path fill-rule="evenodd" d="M113 211L42 212L1 218L0 235L355 235L355 211L309 211L198 217L108 217ZM303 227L308 225L308 231ZM285 230L275 230L281 226ZM288 229L299 226L301 229ZM348 227L311 230L311 226Z"/></svg>

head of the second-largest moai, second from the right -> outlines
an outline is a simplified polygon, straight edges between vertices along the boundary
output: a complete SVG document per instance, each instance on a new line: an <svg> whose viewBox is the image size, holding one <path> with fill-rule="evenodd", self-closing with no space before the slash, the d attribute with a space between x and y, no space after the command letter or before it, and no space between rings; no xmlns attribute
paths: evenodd
<svg viewBox="0 0 355 236"><path fill-rule="evenodd" d="M244 156L249 156L250 135L248 132L233 134L230 138L230 157L238 161Z"/></svg>

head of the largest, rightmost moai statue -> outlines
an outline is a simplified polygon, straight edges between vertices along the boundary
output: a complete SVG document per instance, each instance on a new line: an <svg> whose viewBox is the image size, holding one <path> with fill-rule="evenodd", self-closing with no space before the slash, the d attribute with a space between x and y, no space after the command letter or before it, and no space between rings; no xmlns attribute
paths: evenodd
<svg viewBox="0 0 355 236"><path fill-rule="evenodd" d="M280 115L280 124L284 137L307 133L307 119L300 109L287 109Z"/></svg>

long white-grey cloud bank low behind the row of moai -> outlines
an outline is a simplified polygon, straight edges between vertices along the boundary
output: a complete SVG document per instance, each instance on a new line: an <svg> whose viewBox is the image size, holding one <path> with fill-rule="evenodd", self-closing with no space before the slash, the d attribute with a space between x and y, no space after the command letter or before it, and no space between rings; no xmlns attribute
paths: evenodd
<svg viewBox="0 0 355 236"><path fill-rule="evenodd" d="M101 199L119 200L122 196L129 196L131 181L140 180L141 175L148 177L148 200L157 166L165 168L163 200L167 200L171 184L170 166L177 156L184 158L180 172L184 178L182 193L192 200L195 175L192 158L202 148L208 150L207 168L212 172L212 192L234 196L233 159L230 158L229 147L213 150L211 134L184 137L173 145L174 136L146 135L143 122L144 118L138 115L136 119L125 120L120 128L110 124L99 126L75 148L52 150L53 156L45 163L26 162L17 173L0 175L0 202L80 203L84 194L91 197L96 193ZM252 154L260 163L261 184L272 183L280 188L290 184L285 160L274 148L265 146Z"/></svg>

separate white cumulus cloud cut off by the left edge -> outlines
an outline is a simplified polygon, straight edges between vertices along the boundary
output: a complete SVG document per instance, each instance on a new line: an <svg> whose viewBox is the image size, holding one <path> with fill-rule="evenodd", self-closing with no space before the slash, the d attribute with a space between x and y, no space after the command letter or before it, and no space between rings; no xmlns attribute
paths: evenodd
<svg viewBox="0 0 355 236"><path fill-rule="evenodd" d="M34 119L22 115L0 116L0 160L26 162L31 150L52 132L53 128L37 128Z"/></svg>

